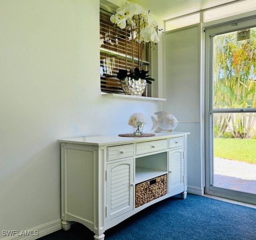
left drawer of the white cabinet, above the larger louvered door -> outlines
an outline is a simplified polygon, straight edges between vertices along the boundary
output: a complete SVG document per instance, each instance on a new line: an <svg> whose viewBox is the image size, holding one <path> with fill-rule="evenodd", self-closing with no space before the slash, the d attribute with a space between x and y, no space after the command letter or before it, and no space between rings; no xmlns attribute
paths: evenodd
<svg viewBox="0 0 256 240"><path fill-rule="evenodd" d="M133 144L108 147L107 153L107 161L124 157L132 157L134 155L134 147Z"/></svg>

